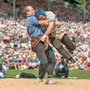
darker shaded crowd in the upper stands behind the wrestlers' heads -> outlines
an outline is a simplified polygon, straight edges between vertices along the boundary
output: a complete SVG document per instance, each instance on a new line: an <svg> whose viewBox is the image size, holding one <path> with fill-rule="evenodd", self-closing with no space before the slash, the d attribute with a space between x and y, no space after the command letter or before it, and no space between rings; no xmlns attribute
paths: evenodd
<svg viewBox="0 0 90 90"><path fill-rule="evenodd" d="M9 3L5 3L4 0L1 1L1 8L0 8L0 13L2 16L12 16L12 9L13 9L13 5L10 2L10 0L8 0ZM23 17L23 7L26 5L31 5L33 6L36 10L38 8L47 11L48 9L50 9L51 11L53 11L59 20L61 21L82 21L83 20L83 12L81 10L78 10L76 7L72 7L68 6L68 8L66 8L66 5L64 5L64 3L59 3L59 4L55 4L54 2L48 4L48 1L46 0L26 0L23 2L23 0L17 0L16 1L16 13L15 16L16 18L22 18ZM53 7L52 7L53 6ZM9 16L8 16L9 15ZM86 20L90 21L90 16L88 14L86 14Z"/></svg>

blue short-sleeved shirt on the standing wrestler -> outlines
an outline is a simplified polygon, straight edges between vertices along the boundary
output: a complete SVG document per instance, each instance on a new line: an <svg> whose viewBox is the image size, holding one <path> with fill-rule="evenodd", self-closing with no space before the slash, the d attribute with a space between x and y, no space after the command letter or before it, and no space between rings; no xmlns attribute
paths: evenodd
<svg viewBox="0 0 90 90"><path fill-rule="evenodd" d="M27 32L30 37L43 36L43 32L40 28L39 21L35 16L28 16L26 18Z"/></svg>

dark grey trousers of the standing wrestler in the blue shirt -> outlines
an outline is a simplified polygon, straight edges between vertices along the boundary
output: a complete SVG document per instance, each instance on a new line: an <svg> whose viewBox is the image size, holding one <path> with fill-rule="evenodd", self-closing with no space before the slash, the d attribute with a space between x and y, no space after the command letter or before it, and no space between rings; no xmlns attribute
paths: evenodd
<svg viewBox="0 0 90 90"><path fill-rule="evenodd" d="M46 72L48 73L48 75L53 75L56 59L52 48L49 46L48 50L45 51L44 44L40 42L37 45L35 52L40 60L39 78L43 79Z"/></svg>

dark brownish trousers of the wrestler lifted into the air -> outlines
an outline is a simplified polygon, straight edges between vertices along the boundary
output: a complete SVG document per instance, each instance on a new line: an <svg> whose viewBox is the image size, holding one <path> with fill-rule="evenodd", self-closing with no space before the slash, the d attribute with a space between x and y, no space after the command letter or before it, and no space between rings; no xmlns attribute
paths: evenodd
<svg viewBox="0 0 90 90"><path fill-rule="evenodd" d="M51 44L58 50L58 52L67 60L69 60L72 56L70 53L63 47L62 43L65 45L69 51L75 50L75 45L73 42L69 39L67 34L64 35L63 39L61 42L56 39L55 37L49 37Z"/></svg>

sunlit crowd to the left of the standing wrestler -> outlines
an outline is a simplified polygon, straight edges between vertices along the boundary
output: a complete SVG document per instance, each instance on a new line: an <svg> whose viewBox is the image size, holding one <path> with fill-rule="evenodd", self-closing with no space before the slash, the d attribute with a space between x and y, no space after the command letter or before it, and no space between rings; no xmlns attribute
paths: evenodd
<svg viewBox="0 0 90 90"><path fill-rule="evenodd" d="M23 22L13 18L0 19L0 61L3 61L6 70L38 68L40 63L31 50L30 38L26 35Z"/></svg>

